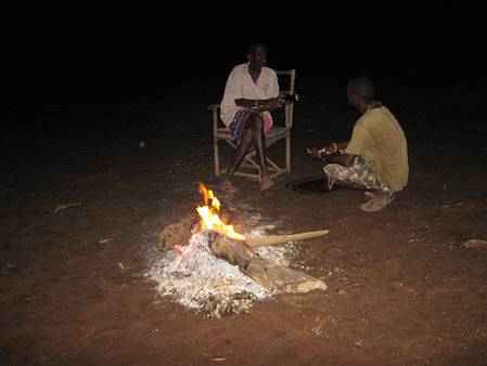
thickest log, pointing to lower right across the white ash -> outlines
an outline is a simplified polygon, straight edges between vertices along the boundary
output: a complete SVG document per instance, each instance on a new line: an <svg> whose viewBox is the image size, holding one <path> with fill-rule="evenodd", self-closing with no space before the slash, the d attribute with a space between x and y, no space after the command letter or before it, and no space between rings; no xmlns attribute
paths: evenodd
<svg viewBox="0 0 487 366"><path fill-rule="evenodd" d="M326 289L326 285L318 278L260 258L245 241L216 235L215 239L209 244L209 248L216 257L223 258L231 264L239 265L242 273L270 292L299 293L315 289Z"/></svg>

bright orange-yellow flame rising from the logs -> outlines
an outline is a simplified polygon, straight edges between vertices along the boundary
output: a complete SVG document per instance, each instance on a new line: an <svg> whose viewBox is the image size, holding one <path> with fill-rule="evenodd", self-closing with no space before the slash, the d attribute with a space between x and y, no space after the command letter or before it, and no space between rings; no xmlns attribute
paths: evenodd
<svg viewBox="0 0 487 366"><path fill-rule="evenodd" d="M245 240L245 236L236 233L233 225L225 224L218 212L220 211L220 201L213 194L213 191L207 189L203 183L200 183L200 193L203 195L205 206L196 208L197 213L202 219L202 228L216 231L235 240Z"/></svg>

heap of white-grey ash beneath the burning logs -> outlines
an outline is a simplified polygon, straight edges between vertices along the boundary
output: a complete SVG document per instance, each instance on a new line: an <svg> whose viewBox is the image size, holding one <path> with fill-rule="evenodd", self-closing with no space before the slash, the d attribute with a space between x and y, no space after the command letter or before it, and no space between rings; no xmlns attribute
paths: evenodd
<svg viewBox="0 0 487 366"><path fill-rule="evenodd" d="M253 231L252 235L260 235L262 232L258 230ZM167 251L153 262L146 275L157 282L159 295L171 296L188 309L217 317L246 313L256 301L273 295L240 272L236 265L215 257L208 247L208 240L205 232L193 234L189 245L194 246L194 252L182 258L177 266L176 251ZM294 246L261 247L256 252L262 258L287 265Z"/></svg>

